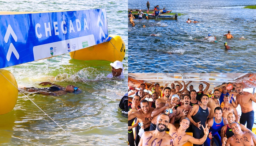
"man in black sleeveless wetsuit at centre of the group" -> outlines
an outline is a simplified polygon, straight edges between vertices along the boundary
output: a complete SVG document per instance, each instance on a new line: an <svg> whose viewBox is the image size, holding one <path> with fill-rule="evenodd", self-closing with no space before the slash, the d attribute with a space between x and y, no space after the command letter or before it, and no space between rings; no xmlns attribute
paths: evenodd
<svg viewBox="0 0 256 146"><path fill-rule="evenodd" d="M201 124L206 127L206 120L211 112L211 109L207 107L207 103L209 100L208 95L204 94L201 97L202 104L195 104L192 106L190 111L188 112L188 119L192 123L192 131L193 137L196 139L200 139L204 136L203 128ZM200 128L201 127L201 128ZM202 146L202 145L194 145L194 146Z"/></svg>

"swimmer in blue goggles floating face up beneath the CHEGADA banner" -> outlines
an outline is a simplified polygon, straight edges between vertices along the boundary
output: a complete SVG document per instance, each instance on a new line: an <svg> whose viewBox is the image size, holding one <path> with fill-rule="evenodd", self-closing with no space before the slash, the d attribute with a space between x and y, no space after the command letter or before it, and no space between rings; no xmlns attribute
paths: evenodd
<svg viewBox="0 0 256 146"><path fill-rule="evenodd" d="M67 93L80 93L79 87L76 87L74 85L67 85L66 88L64 88L61 85L57 85L51 82L41 82L39 85L45 86L45 85L52 85L51 87L48 88L35 88L35 87L30 87L30 88L19 88L19 91L22 92L35 92L37 94L42 94L42 95L47 95L47 96L60 96L60 95L65 95Z"/></svg>

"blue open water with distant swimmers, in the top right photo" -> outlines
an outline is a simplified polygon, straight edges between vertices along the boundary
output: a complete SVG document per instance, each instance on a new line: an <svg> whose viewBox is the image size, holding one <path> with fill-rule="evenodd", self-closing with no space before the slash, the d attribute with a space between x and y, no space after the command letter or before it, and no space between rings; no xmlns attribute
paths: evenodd
<svg viewBox="0 0 256 146"><path fill-rule="evenodd" d="M256 5L255 0L149 2L150 9L159 5L184 15L178 20L135 19L135 27L128 24L129 72L256 71L256 9L243 8ZM128 8L146 9L146 2L129 0ZM188 24L188 18L200 23ZM228 30L233 39L223 36ZM203 39L209 33L217 42ZM240 40L242 36L246 39ZM225 50L225 41L231 50Z"/></svg>

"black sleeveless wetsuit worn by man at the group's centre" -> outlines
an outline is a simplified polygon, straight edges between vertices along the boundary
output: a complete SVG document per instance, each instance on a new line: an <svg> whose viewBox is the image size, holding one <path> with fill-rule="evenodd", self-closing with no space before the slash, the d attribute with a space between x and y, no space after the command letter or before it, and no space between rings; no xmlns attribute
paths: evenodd
<svg viewBox="0 0 256 146"><path fill-rule="evenodd" d="M208 111L208 107L206 108L206 110L204 110L202 107L200 107L199 105L199 109L197 111L197 113L192 116L192 119L197 123L199 121L201 125L203 125L205 127L205 123L207 120L207 117L209 116L209 111ZM193 137L200 139L204 136L204 130L202 128L202 126L200 127L200 129L198 127L196 127L194 124L191 125L192 127L192 131L193 131ZM202 145L195 145L194 146L202 146Z"/></svg>

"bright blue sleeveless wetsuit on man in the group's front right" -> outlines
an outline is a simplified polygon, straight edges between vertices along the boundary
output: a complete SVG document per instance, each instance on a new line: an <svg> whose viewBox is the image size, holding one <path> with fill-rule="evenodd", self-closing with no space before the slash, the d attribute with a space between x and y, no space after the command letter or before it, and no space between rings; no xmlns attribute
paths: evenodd
<svg viewBox="0 0 256 146"><path fill-rule="evenodd" d="M215 122L215 117L213 117L213 124L212 127L209 129L209 133L211 132L212 134L212 140L216 143L217 146L221 146L221 137L219 136L218 131L221 130L221 128L224 126L223 118L221 117L221 122L216 123ZM211 139L207 137L206 141L204 142L204 146L210 146L211 144Z"/></svg>

